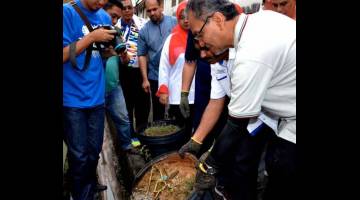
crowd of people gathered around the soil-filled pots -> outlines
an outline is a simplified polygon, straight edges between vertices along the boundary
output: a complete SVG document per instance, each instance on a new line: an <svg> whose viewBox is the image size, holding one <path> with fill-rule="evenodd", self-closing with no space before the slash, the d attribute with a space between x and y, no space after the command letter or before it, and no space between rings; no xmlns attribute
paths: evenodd
<svg viewBox="0 0 360 200"><path fill-rule="evenodd" d="M185 127L179 155L199 158L189 199L255 200L264 153L263 199L295 199L296 0L264 0L252 13L228 0L182 1L175 17L161 0L145 0L145 10L149 19L131 0L63 5L72 198L106 190L96 177L105 114L132 154L152 107L152 120L168 108Z"/></svg>

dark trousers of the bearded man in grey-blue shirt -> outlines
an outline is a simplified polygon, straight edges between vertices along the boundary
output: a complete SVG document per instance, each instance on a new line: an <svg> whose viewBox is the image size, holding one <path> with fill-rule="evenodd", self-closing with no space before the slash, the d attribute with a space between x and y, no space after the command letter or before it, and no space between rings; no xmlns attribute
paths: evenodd
<svg viewBox="0 0 360 200"><path fill-rule="evenodd" d="M153 104L153 121L164 119L165 106L159 102L159 97L156 96L156 92L159 87L157 80L149 80L151 89L151 99Z"/></svg>

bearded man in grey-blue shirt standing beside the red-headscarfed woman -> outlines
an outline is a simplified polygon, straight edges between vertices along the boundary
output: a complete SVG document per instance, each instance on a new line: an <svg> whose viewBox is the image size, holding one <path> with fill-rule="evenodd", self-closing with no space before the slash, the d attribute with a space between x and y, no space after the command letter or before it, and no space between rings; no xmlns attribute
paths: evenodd
<svg viewBox="0 0 360 200"><path fill-rule="evenodd" d="M138 40L139 66L143 78L142 87L147 93L151 90L154 121L164 118L165 109L155 95L158 90L161 51L165 39L177 24L175 17L163 15L160 5L160 0L145 1L146 12L150 21L140 30Z"/></svg>

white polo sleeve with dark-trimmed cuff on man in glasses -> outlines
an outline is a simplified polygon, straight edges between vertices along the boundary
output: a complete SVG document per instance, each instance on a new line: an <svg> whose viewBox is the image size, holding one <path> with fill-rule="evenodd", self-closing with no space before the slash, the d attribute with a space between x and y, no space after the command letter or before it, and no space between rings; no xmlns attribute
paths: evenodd
<svg viewBox="0 0 360 200"><path fill-rule="evenodd" d="M251 60L236 60L230 72L229 114L244 118L258 116L273 70Z"/></svg>

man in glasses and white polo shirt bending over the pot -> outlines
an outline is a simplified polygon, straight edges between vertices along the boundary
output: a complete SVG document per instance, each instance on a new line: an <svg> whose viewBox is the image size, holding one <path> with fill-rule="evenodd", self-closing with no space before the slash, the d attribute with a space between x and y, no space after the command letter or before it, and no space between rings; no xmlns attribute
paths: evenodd
<svg viewBox="0 0 360 200"><path fill-rule="evenodd" d="M208 173L198 175L195 186L205 180L201 177L221 170L228 162L227 153L249 134L249 121L263 112L278 119L278 137L271 138L266 158L269 185L265 199L292 199L296 184L296 22L273 11L238 15L227 0L190 0L187 10L202 57L206 51L216 55L228 48L236 50L230 71L229 119L210 155L199 165ZM234 199L253 199L251 195Z"/></svg>

